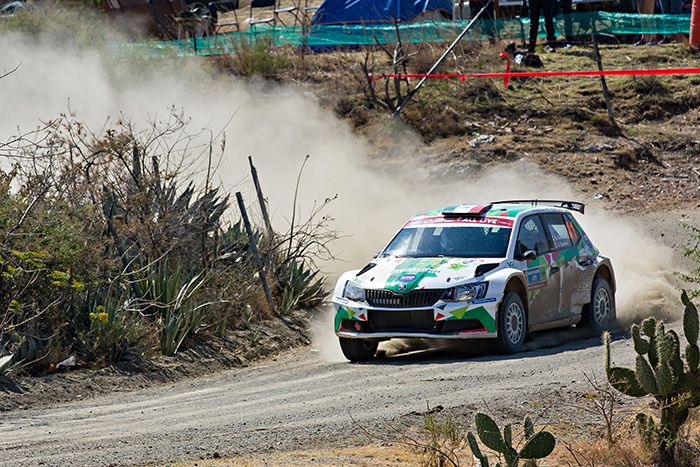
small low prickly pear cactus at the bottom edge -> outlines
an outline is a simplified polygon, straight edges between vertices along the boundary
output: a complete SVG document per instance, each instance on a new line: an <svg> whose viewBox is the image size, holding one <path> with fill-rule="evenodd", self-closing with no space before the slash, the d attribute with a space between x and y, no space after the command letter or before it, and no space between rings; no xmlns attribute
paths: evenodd
<svg viewBox="0 0 700 467"><path fill-rule="evenodd" d="M522 440L515 447L513 446L513 427L511 424L506 425L501 433L493 418L481 412L474 417L474 424L481 443L497 453L496 467L501 465L515 467L521 460L526 461L525 465L535 465L534 459L543 459L549 456L556 445L556 440L550 432L544 430L535 432L530 417L525 417ZM482 452L476 437L471 432L467 434L467 441L481 467L488 467L488 457ZM504 464L501 464L501 461Z"/></svg>

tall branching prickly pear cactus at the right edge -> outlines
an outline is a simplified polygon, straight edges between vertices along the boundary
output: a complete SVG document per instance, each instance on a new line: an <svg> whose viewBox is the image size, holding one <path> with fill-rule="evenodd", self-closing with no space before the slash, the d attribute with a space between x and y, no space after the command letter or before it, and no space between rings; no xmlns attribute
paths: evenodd
<svg viewBox="0 0 700 467"><path fill-rule="evenodd" d="M666 331L664 323L647 318L632 326L632 340L637 353L635 369L610 366L610 335L605 333L605 370L610 384L632 397L653 396L659 403L657 424L643 420L644 430L655 434L656 458L663 465L675 465L676 445L690 409L700 406L700 351L698 350L698 310L683 291L685 306L683 333L687 340L685 363L681 358L678 335ZM640 421L640 420L638 420Z"/></svg>

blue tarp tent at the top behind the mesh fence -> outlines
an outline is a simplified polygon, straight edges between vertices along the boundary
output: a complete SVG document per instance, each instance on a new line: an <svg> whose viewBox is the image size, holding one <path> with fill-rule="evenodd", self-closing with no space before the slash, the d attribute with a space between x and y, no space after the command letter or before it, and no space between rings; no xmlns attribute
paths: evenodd
<svg viewBox="0 0 700 467"><path fill-rule="evenodd" d="M325 0L313 24L411 21L431 11L452 16L452 0Z"/></svg>

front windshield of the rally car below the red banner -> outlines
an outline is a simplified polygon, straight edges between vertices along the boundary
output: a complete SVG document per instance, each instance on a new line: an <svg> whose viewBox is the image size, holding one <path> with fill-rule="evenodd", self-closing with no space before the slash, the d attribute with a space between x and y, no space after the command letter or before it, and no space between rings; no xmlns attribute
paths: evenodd
<svg viewBox="0 0 700 467"><path fill-rule="evenodd" d="M500 226L407 227L394 237L382 256L503 258L510 231Z"/></svg>

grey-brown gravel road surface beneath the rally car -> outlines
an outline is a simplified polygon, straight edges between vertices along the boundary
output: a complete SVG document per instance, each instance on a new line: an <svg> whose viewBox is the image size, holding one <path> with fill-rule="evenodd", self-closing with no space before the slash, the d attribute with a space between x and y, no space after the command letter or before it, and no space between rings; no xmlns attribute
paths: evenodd
<svg viewBox="0 0 700 467"><path fill-rule="evenodd" d="M513 356L422 351L371 364L328 362L304 349L215 377L49 410L5 414L1 465L96 465L197 459L337 441L363 425L431 406L519 405L585 387L599 373L599 338L573 340ZM629 363L627 340L613 344Z"/></svg>

